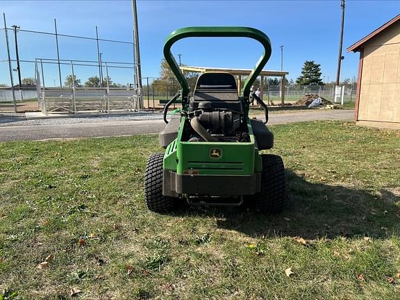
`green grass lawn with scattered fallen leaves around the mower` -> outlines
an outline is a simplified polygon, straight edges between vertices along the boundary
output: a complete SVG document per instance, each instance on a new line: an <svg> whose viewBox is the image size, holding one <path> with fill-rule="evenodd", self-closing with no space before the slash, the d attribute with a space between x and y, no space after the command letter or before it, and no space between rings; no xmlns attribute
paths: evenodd
<svg viewBox="0 0 400 300"><path fill-rule="evenodd" d="M0 144L0 299L399 299L400 133L271 128L279 215L150 213L157 135Z"/></svg>

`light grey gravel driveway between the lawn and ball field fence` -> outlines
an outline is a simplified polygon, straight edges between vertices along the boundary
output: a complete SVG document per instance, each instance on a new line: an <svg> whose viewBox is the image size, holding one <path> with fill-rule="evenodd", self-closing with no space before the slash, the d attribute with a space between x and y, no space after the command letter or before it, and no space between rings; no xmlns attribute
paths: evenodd
<svg viewBox="0 0 400 300"><path fill-rule="evenodd" d="M351 121L353 115L354 110L310 110L270 113L268 124L317 120ZM263 119L263 116L260 115L258 118ZM164 126L163 117L160 113L32 120L12 116L7 117L0 114L0 142L159 133Z"/></svg>

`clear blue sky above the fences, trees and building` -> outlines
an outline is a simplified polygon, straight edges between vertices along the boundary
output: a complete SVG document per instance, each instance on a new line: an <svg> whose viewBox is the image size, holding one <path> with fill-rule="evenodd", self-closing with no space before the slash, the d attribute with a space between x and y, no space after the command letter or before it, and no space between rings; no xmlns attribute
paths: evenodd
<svg viewBox="0 0 400 300"><path fill-rule="evenodd" d="M346 48L374 31L400 12L400 1L346 1L344 27L344 60L341 78L357 75L358 53ZM53 31L57 19L58 33L95 36L132 41L131 1L0 1L8 27ZM322 75L335 79L340 34L340 1L150 1L138 0L142 76L158 76L167 35L184 26L251 26L264 31L272 41L272 57L266 69L280 69L284 45L283 69L288 78L296 79L305 60L321 64ZM1 26L3 23L1 20ZM12 36L12 33L10 32ZM53 36L18 33L20 59L56 58ZM15 57L13 40L12 57ZM133 47L101 42L103 60L133 61ZM173 48L182 53L185 65L252 68L261 48L246 39L217 40L199 38L180 41ZM60 56L64 59L97 60L93 41L60 38ZM0 31L0 59L6 59L4 31ZM45 70L47 83L57 81L56 66ZM63 67L63 76L69 74ZM84 82L97 69L78 67L78 78ZM15 72L15 78L16 78ZM33 76L33 66L22 64L22 77ZM131 70L110 71L119 83L132 82ZM326 78L327 79L327 78ZM8 82L8 65L0 63L0 83Z"/></svg>

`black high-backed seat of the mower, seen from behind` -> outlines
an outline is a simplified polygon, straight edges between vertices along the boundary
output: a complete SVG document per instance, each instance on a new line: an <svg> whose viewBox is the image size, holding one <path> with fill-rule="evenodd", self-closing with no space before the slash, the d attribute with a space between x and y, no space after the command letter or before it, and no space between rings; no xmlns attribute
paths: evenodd
<svg viewBox="0 0 400 300"><path fill-rule="evenodd" d="M199 103L209 102L211 108L226 108L242 113L235 77L226 72L206 72L197 79L190 111L197 110Z"/></svg>

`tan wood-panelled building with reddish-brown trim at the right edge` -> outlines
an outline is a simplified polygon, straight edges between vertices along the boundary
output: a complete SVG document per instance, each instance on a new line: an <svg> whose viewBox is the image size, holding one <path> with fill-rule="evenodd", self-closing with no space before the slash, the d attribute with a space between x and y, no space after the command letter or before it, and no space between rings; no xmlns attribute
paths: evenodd
<svg viewBox="0 0 400 300"><path fill-rule="evenodd" d="M400 15L347 51L360 52L356 123L400 128Z"/></svg>

